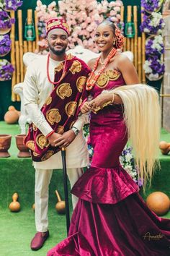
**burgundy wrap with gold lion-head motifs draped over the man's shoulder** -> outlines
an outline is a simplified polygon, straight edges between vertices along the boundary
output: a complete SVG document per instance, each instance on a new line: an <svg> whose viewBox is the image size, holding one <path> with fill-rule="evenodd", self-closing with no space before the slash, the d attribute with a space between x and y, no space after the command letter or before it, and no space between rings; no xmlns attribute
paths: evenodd
<svg viewBox="0 0 170 256"><path fill-rule="evenodd" d="M60 80L63 74L63 63L55 67L54 82ZM53 88L41 111L48 124L55 132L63 134L73 126L79 114L79 106L86 98L86 77L89 67L81 59L68 54L65 74L61 82ZM30 124L25 144L31 150L32 160L45 161L57 153L60 148L50 145L48 139L42 135L34 124Z"/></svg>

